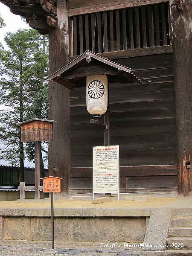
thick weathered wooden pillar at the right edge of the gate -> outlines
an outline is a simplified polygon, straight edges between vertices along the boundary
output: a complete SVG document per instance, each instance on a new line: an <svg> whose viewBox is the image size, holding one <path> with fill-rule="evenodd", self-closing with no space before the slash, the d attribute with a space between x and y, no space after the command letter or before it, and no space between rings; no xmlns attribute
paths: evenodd
<svg viewBox="0 0 192 256"><path fill-rule="evenodd" d="M178 2L178 1L177 1ZM192 3L170 1L175 81L178 198L192 197Z"/></svg>

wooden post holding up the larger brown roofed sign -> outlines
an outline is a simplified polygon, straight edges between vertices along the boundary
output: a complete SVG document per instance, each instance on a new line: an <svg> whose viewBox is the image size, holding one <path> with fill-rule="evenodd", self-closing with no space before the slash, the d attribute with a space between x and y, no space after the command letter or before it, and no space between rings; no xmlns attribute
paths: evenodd
<svg viewBox="0 0 192 256"><path fill-rule="evenodd" d="M35 141L35 201L40 199L40 142Z"/></svg>

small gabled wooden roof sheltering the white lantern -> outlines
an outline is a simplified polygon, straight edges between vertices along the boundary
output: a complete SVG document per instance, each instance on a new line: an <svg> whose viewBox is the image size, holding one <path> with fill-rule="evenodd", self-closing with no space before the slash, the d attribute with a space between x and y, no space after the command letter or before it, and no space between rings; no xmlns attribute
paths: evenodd
<svg viewBox="0 0 192 256"><path fill-rule="evenodd" d="M93 65L93 62L95 62ZM87 50L65 67L56 71L48 78L69 90L84 87L85 78L89 75L108 75L109 82L134 82L142 84L140 79L131 72L131 68L122 66ZM84 79L84 81L82 80ZM83 81L83 82L82 82Z"/></svg>

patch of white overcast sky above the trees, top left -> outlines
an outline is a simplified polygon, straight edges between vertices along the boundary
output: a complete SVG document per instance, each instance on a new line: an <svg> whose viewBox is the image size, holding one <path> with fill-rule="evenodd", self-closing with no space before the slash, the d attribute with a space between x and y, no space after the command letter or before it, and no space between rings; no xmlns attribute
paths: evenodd
<svg viewBox="0 0 192 256"><path fill-rule="evenodd" d="M6 48L6 43L4 41L4 36L7 32L16 32L18 29L29 29L29 25L21 20L19 15L12 14L9 11L9 7L0 3L0 16L3 18L6 26L0 28L0 42Z"/></svg>

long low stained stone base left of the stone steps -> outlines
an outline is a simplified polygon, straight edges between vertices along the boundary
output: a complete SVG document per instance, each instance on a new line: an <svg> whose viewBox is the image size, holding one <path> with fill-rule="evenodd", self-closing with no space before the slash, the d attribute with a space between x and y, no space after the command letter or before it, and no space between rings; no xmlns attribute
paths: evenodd
<svg viewBox="0 0 192 256"><path fill-rule="evenodd" d="M51 209L0 209L1 239L51 241ZM55 241L141 243L150 209L56 208Z"/></svg>

